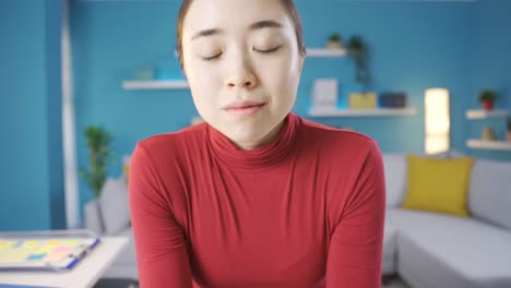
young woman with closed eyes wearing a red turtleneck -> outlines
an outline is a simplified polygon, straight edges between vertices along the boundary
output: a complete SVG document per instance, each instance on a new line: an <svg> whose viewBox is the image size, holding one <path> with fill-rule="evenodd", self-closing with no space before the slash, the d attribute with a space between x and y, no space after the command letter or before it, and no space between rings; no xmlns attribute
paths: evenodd
<svg viewBox="0 0 511 288"><path fill-rule="evenodd" d="M306 49L292 0L185 0L181 68L205 120L138 143L141 287L379 288L377 143L290 113Z"/></svg>

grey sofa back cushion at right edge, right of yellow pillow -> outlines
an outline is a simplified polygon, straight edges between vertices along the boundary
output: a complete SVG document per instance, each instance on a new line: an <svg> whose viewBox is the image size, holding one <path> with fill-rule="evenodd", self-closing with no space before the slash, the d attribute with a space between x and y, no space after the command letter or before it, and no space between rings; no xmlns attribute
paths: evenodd
<svg viewBox="0 0 511 288"><path fill-rule="evenodd" d="M468 188L471 213L476 218L511 229L510 207L511 163L477 159Z"/></svg>

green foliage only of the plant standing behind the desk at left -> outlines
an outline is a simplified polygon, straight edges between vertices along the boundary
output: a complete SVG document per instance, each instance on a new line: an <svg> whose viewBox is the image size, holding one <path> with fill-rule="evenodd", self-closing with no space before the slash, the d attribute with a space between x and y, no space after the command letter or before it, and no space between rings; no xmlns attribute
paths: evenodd
<svg viewBox="0 0 511 288"><path fill-rule="evenodd" d="M87 141L90 169L82 168L81 173L97 199L107 177L107 160L112 156L110 133L102 125L90 125L84 130Z"/></svg>

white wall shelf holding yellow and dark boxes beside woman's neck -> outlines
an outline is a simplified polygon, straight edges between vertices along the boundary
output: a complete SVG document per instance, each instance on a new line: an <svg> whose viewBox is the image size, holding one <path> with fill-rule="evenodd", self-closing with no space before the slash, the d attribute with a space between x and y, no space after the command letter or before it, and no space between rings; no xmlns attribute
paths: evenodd
<svg viewBox="0 0 511 288"><path fill-rule="evenodd" d="M378 108L378 109L318 109L309 111L310 117L379 117L379 116L413 116L415 108Z"/></svg>

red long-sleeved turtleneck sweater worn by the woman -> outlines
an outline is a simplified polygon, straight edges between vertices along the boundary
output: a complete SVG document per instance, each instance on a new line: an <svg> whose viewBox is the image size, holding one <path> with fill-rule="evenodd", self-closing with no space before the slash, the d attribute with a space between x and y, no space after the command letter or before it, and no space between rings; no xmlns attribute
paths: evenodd
<svg viewBox="0 0 511 288"><path fill-rule="evenodd" d="M383 165L366 135L289 113L241 151L202 123L139 142L129 179L142 288L380 287Z"/></svg>

